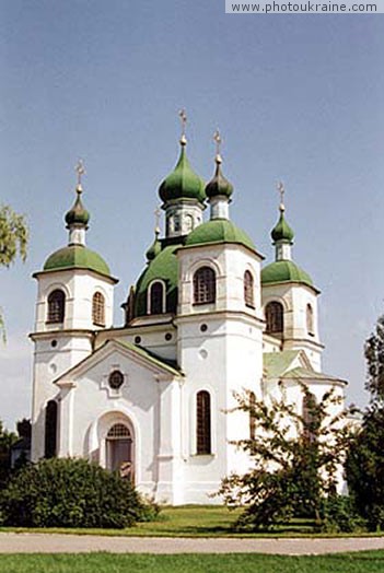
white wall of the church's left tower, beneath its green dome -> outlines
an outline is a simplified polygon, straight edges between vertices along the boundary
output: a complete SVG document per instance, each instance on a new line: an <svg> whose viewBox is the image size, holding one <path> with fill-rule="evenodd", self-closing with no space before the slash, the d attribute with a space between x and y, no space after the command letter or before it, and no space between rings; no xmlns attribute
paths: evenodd
<svg viewBox="0 0 384 573"><path fill-rule="evenodd" d="M92 299L101 292L105 299L105 323L112 326L114 283L82 269L36 273L38 281L32 404L32 459L44 456L45 407L57 395L53 381L92 352ZM48 296L56 289L66 294L62 324L47 323Z"/></svg>

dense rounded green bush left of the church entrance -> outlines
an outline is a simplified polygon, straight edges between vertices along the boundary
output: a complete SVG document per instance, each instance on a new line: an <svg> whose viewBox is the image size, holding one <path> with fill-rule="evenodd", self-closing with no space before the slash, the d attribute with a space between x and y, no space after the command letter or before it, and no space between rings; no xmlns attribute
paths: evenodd
<svg viewBox="0 0 384 573"><path fill-rule="evenodd" d="M0 494L3 525L123 528L155 508L117 473L83 459L44 459L11 478Z"/></svg>

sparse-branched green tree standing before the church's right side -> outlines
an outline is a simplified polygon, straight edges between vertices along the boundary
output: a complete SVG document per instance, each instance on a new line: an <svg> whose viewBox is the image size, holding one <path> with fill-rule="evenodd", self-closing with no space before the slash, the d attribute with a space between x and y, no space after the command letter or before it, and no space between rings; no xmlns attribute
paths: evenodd
<svg viewBox="0 0 384 573"><path fill-rule="evenodd" d="M256 422L255 436L236 443L253 467L245 475L226 477L218 493L228 506L245 507L238 528L268 528L302 515L322 525L325 499L336 495L350 409L340 408L341 398L334 390L318 402L305 385L302 393L305 412L298 412L283 393L270 404L251 400L249 393L236 395L237 409Z"/></svg>

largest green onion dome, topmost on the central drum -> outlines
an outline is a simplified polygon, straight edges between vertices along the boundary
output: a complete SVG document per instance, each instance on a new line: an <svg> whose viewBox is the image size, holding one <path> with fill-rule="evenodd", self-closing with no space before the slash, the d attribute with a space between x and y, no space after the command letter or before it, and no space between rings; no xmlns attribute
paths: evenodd
<svg viewBox="0 0 384 573"><path fill-rule="evenodd" d="M205 183L189 165L185 152L186 140L181 140L181 156L174 171L159 188L161 200L166 203L173 199L196 199L200 203L206 199Z"/></svg>

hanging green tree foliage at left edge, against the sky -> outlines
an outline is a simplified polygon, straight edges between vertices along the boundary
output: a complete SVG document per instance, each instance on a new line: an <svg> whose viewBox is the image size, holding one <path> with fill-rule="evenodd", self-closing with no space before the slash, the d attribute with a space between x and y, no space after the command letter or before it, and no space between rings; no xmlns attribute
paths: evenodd
<svg viewBox="0 0 384 573"><path fill-rule="evenodd" d="M18 257L25 260L28 229L24 215L10 206L0 206L0 266L9 267ZM0 336L5 340L4 318L0 307Z"/></svg>

